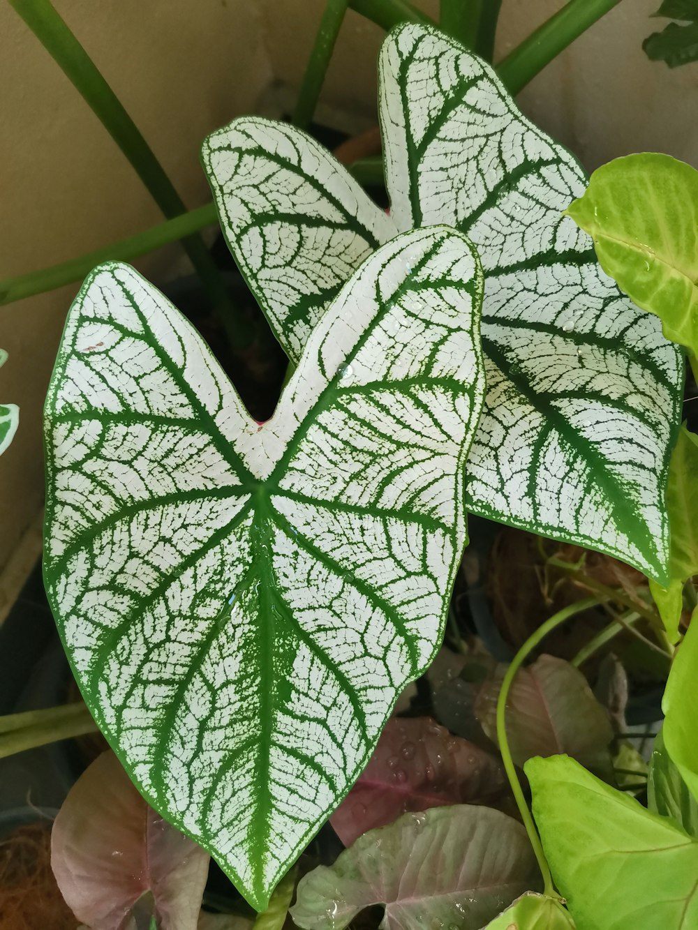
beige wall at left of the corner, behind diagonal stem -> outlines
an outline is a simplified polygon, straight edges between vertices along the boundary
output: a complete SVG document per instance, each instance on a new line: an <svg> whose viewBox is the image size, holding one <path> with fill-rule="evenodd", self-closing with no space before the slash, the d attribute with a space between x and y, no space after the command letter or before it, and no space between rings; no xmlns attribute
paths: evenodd
<svg viewBox="0 0 698 930"><path fill-rule="evenodd" d="M54 3L187 206L205 203L201 140L236 113L252 111L271 78L255 4ZM0 3L0 88L0 278L73 258L163 219L87 104L7 3ZM162 272L180 254L171 246L138 264ZM41 407L76 289L0 307L0 346L9 352L0 402L21 408L15 441L0 458L0 567L43 498Z"/></svg>

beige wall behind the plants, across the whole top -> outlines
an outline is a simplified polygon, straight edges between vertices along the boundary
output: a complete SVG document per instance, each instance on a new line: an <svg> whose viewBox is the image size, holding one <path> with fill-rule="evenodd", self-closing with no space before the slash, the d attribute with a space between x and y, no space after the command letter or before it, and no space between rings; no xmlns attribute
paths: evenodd
<svg viewBox="0 0 698 930"><path fill-rule="evenodd" d="M207 132L254 109L272 78L298 85L324 0L54 0L97 61L188 206L208 199L198 164ZM521 94L526 113L589 168L633 151L698 165L698 65L669 71L642 39L659 0L624 0ZM437 0L422 6L436 14ZM498 55L562 6L503 0ZM354 13L342 28L323 102L376 122L375 59L382 31ZM31 271L147 228L157 208L60 70L0 4L0 278ZM162 273L180 253L141 262ZM0 402L21 406L15 443L0 458L0 566L43 494L40 418L62 321L76 290L0 308Z"/></svg>

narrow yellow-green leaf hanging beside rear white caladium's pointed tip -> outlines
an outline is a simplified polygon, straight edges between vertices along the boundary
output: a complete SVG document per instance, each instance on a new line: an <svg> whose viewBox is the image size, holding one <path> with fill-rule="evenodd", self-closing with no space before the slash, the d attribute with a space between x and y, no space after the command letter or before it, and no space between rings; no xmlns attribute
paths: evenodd
<svg viewBox="0 0 698 930"><path fill-rule="evenodd" d="M666 589L650 582L652 597L672 643L678 640L683 583L698 575L698 436L685 426L678 433L666 485L669 514L669 577Z"/></svg>

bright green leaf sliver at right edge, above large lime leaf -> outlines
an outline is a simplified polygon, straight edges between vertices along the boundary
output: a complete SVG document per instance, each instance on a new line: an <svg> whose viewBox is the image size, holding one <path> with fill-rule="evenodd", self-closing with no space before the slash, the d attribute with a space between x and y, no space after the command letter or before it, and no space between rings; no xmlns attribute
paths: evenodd
<svg viewBox="0 0 698 930"><path fill-rule="evenodd" d="M689 629L678 646L666 683L664 746L677 764L681 777L698 800L698 715L696 714L696 670L698 669L698 623Z"/></svg>

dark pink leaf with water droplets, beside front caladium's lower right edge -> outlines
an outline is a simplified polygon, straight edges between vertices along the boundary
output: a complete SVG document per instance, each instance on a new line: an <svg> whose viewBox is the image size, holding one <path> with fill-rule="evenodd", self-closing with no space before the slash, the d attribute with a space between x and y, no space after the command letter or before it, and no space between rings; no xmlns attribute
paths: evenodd
<svg viewBox="0 0 698 930"><path fill-rule="evenodd" d="M430 717L392 718L369 764L329 822L345 846L406 811L479 804L506 784L499 759Z"/></svg>

